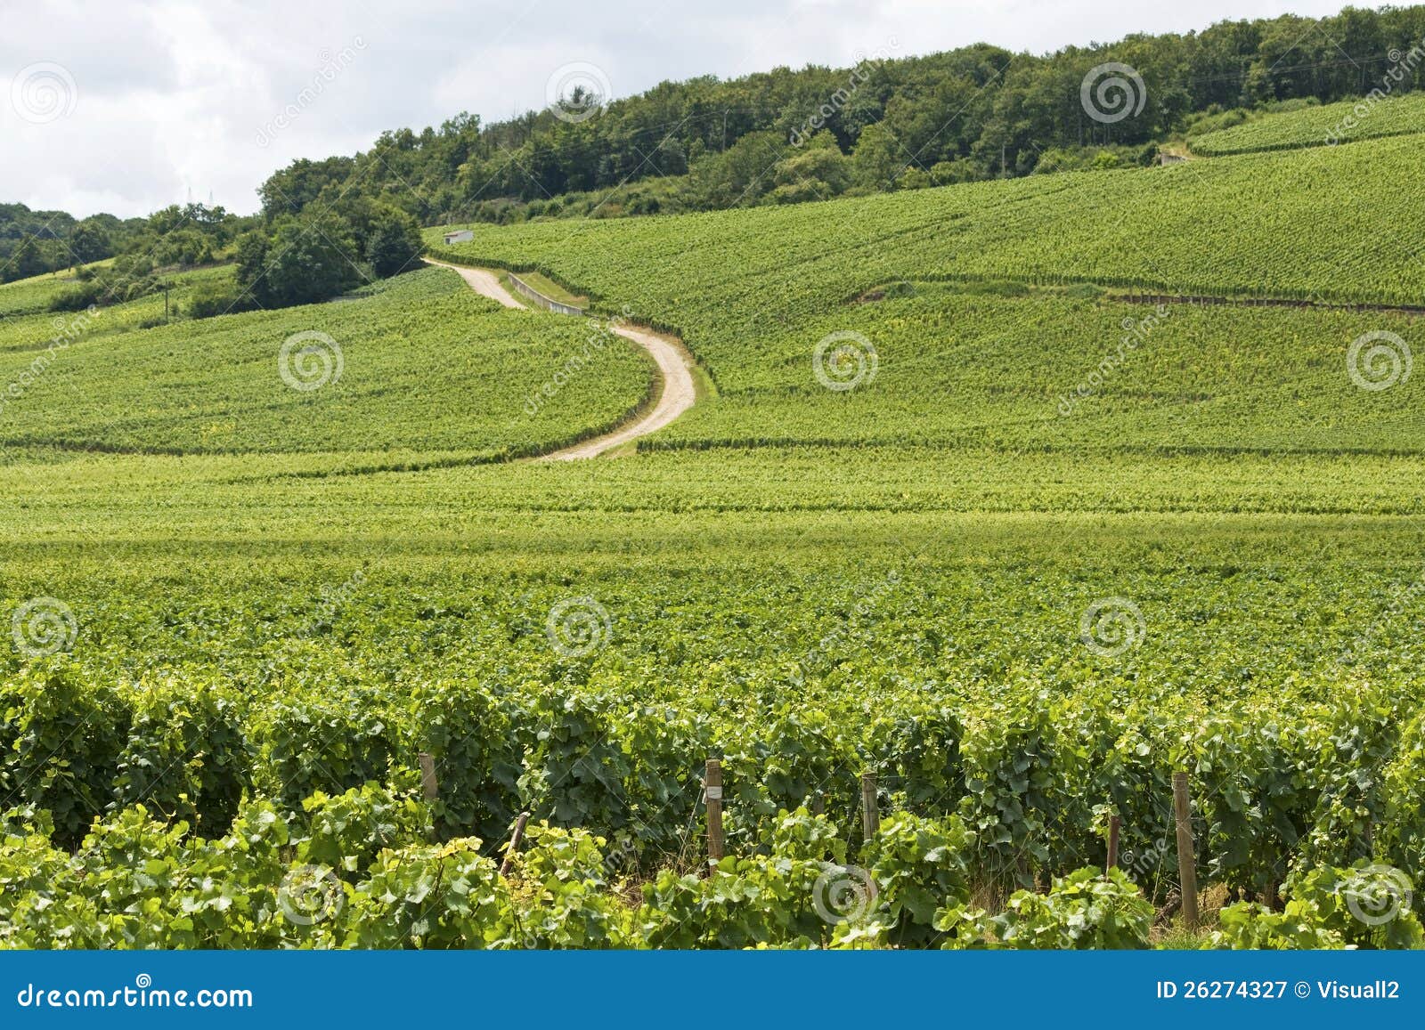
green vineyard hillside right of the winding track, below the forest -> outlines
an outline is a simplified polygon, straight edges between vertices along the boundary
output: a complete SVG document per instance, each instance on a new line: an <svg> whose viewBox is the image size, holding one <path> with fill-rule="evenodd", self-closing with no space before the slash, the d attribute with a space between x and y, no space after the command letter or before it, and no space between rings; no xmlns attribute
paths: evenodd
<svg viewBox="0 0 1425 1030"><path fill-rule="evenodd" d="M1191 283L1154 283L1174 292L1227 292L1297 269L1307 276L1301 288L1344 301L1379 299L1391 282L1414 283L1418 301L1425 265L1408 239L1419 214L1394 192L1401 181L1425 187L1414 154L1409 141L1388 140L792 209L486 227L452 252L534 261L589 286L606 308L628 303L638 316L677 325L720 395L651 446L1379 450L1414 462L1425 446L1421 380L1361 390L1347 365L1364 333L1416 339L1414 318L1187 305L1157 312L1050 288L1000 296L919 282L990 274L1112 282L1092 275L1093 252L1107 246L1124 278L1194 268ZM1342 198L1349 232L1338 229ZM1371 262L1352 278L1362 255ZM1216 282L1203 278L1208 269L1218 271ZM875 303L848 302L902 279L919 285ZM814 378L812 350L848 331L871 340L878 372L855 390L829 392ZM1106 360L1112 368L1100 373Z"/></svg>

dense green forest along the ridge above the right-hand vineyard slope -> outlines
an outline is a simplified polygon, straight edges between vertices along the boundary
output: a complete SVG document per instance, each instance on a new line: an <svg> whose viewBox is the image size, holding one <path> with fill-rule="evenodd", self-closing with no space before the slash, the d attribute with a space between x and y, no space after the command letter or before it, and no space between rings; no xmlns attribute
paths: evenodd
<svg viewBox="0 0 1425 1030"><path fill-rule="evenodd" d="M797 202L1146 164L1204 118L1230 124L1234 113L1362 95L1399 63L1392 53L1422 40L1416 6L1223 21L1045 56L975 44L895 57L888 46L852 68L690 78L611 103L584 95L580 113L594 111L579 120L557 110L492 124L459 114L439 128L383 132L355 157L295 161L259 195L268 217L380 197L432 225ZM1140 76L1137 110L1096 120L1080 90L1110 61Z"/></svg>

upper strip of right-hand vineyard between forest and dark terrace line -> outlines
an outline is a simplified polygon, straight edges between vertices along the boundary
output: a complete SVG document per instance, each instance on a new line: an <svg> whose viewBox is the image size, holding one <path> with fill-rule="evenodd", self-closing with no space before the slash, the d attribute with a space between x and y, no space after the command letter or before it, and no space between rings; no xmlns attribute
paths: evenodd
<svg viewBox="0 0 1425 1030"><path fill-rule="evenodd" d="M1425 167L1416 158L1409 138L1371 140L828 204L486 225L447 252L540 265L596 299L690 332L720 311L787 319L898 278L1418 303ZM718 340L690 342L714 368L721 362Z"/></svg>

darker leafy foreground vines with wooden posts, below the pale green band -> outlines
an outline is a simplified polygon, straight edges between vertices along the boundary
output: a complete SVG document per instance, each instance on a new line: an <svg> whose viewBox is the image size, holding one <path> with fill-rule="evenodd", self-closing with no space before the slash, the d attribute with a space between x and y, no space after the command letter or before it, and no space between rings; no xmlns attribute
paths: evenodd
<svg viewBox="0 0 1425 1030"><path fill-rule="evenodd" d="M68 919L74 943L104 945L737 946L859 929L943 945L959 940L936 927L950 909L970 919L1100 865L1102 808L1123 819L1121 903L1140 910L1137 892L1167 903L1167 779L1180 766L1196 771L1204 882L1260 899L1297 882L1298 866L1418 868L1421 604L1395 557L1419 547L1416 534L1332 531L1308 571L1274 567L1280 527L1231 517L1160 519L1123 539L1054 516L861 514L824 527L821 539L846 540L834 554L791 544L805 519L745 523L760 551L732 546L720 519L721 536L691 521L707 543L667 570L654 547L621 553L617 519L594 521L601 531L584 540L606 543L583 554L574 537L549 540L544 557L527 541L502 554L509 529L494 524L450 537L483 558L446 557L429 533L386 540L365 561L309 558L294 577L284 570L298 554L333 546L335 530L312 529L265 548L256 570L217 560L201 583L151 560L147 573L174 584L164 593L28 558L38 578L13 584L7 603L43 584L68 598L81 631L67 655L17 658L6 677L6 789L53 821L11 815L6 868L30 879L10 898L28 910L76 876L93 915L40 906L16 932L58 933L50 920ZM1170 550L1184 530L1196 543ZM125 563L144 550L135 541ZM986 568L976 556L992 551L1003 557ZM741 566L758 553L781 567ZM506 586L516 574L520 593ZM1121 650L1080 637L1109 590L1143 618ZM1310 634L1302 608L1315 613ZM1355 611L1384 615L1361 625ZM435 802L419 799L422 751ZM722 759L732 858L700 880L708 756ZM871 845L856 813L866 768L885 813ZM520 809L553 829L497 878ZM804 888L824 862L869 869L886 907L859 927L817 919ZM118 899L147 880L111 879L145 863L162 900L130 917ZM241 879L204 898L215 863ZM276 910L264 899L308 866L332 870L319 886L342 917L264 923L256 909ZM113 876L81 876L94 868ZM475 878L492 907L462 913L459 879L442 888L455 895L423 902L440 869ZM777 899L767 910L734 903L757 888ZM251 923L224 915L235 895ZM583 915L557 915L567 905ZM440 916L423 920L430 906ZM607 936L579 936L593 933L580 920ZM510 937L512 922L550 936ZM1133 940L1146 943L1150 922ZM1321 943L1372 939L1330 919L1317 929Z"/></svg>

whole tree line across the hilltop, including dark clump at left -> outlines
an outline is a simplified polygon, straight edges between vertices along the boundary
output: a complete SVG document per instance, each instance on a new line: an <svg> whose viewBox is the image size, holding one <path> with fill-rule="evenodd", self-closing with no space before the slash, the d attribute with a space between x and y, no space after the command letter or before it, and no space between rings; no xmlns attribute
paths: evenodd
<svg viewBox="0 0 1425 1030"><path fill-rule="evenodd" d="M125 299L155 272L237 258L237 288L198 312L305 303L409 268L419 225L703 211L1147 164L1163 142L1271 107L1364 95L1422 64L1425 6L1223 21L1200 33L1016 54L975 44L922 57L886 46L851 68L774 68L574 98L483 124L383 132L370 150L299 160L259 188L261 214L201 204L147 219L0 205L0 281L115 258L64 303ZM1123 118L1082 94L1099 66L1137 80ZM586 117L587 115L587 117Z"/></svg>

